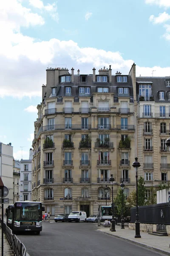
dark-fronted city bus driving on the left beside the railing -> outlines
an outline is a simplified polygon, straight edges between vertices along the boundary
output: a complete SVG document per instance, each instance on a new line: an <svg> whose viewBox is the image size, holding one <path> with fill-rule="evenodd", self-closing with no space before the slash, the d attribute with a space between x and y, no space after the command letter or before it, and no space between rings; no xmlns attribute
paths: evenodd
<svg viewBox="0 0 170 256"><path fill-rule="evenodd" d="M42 207L41 202L18 201L11 207L12 212L12 231L17 233L42 231Z"/></svg>

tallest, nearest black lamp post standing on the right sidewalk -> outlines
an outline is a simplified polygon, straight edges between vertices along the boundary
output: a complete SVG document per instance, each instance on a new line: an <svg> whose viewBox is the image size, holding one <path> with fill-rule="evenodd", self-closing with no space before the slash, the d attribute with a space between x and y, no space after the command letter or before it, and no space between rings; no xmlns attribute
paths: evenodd
<svg viewBox="0 0 170 256"><path fill-rule="evenodd" d="M135 221L135 238L141 238L140 235L140 222L139 222L139 211L138 211L138 167L140 167L140 163L138 162L138 157L135 157L135 162L132 165L136 168L136 221Z"/></svg>

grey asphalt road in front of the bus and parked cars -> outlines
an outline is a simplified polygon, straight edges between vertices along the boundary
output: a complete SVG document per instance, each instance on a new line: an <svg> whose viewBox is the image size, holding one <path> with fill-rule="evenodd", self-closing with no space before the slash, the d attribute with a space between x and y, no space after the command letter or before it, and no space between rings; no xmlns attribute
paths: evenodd
<svg viewBox="0 0 170 256"><path fill-rule="evenodd" d="M20 234L30 256L163 255L97 231L96 223L43 222L40 235Z"/></svg>

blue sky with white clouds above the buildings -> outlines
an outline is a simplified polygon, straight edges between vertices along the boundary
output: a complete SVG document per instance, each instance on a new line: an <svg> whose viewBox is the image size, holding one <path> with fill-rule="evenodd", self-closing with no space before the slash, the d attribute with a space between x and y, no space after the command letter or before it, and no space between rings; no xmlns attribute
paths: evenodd
<svg viewBox="0 0 170 256"><path fill-rule="evenodd" d="M170 76L169 53L170 0L1 1L0 142L29 158L47 67Z"/></svg>

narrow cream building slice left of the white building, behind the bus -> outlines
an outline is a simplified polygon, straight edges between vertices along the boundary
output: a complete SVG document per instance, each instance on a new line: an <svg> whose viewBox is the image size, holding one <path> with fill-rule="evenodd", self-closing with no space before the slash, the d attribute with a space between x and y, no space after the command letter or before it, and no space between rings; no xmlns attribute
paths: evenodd
<svg viewBox="0 0 170 256"><path fill-rule="evenodd" d="M20 201L20 161L13 159L13 203Z"/></svg>

